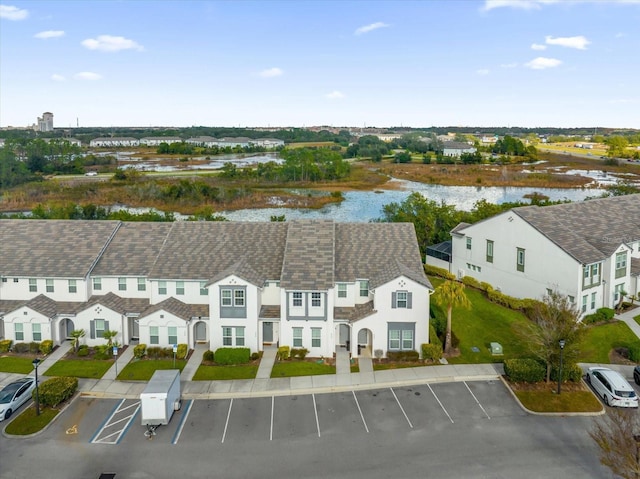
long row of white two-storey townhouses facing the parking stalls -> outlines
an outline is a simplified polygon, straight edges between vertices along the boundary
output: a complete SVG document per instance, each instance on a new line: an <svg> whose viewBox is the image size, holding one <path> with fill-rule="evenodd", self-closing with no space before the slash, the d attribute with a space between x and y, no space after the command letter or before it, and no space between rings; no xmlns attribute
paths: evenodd
<svg viewBox="0 0 640 479"><path fill-rule="evenodd" d="M0 337L419 350L429 294L410 223L0 220Z"/></svg>

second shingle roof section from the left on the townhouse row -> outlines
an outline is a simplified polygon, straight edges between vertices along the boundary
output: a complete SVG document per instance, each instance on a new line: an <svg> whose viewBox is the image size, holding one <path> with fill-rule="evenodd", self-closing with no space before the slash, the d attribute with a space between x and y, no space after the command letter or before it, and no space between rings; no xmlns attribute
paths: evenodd
<svg viewBox="0 0 640 479"><path fill-rule="evenodd" d="M171 230L171 223L124 222L92 276L147 276Z"/></svg>

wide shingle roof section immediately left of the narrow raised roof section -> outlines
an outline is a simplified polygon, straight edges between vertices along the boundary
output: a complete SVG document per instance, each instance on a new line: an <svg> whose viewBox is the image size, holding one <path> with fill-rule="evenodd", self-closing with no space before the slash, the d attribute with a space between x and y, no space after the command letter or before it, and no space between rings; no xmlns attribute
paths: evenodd
<svg viewBox="0 0 640 479"><path fill-rule="evenodd" d="M176 221L149 277L205 281L244 258L261 277L278 279L286 233L283 222Z"/></svg>

